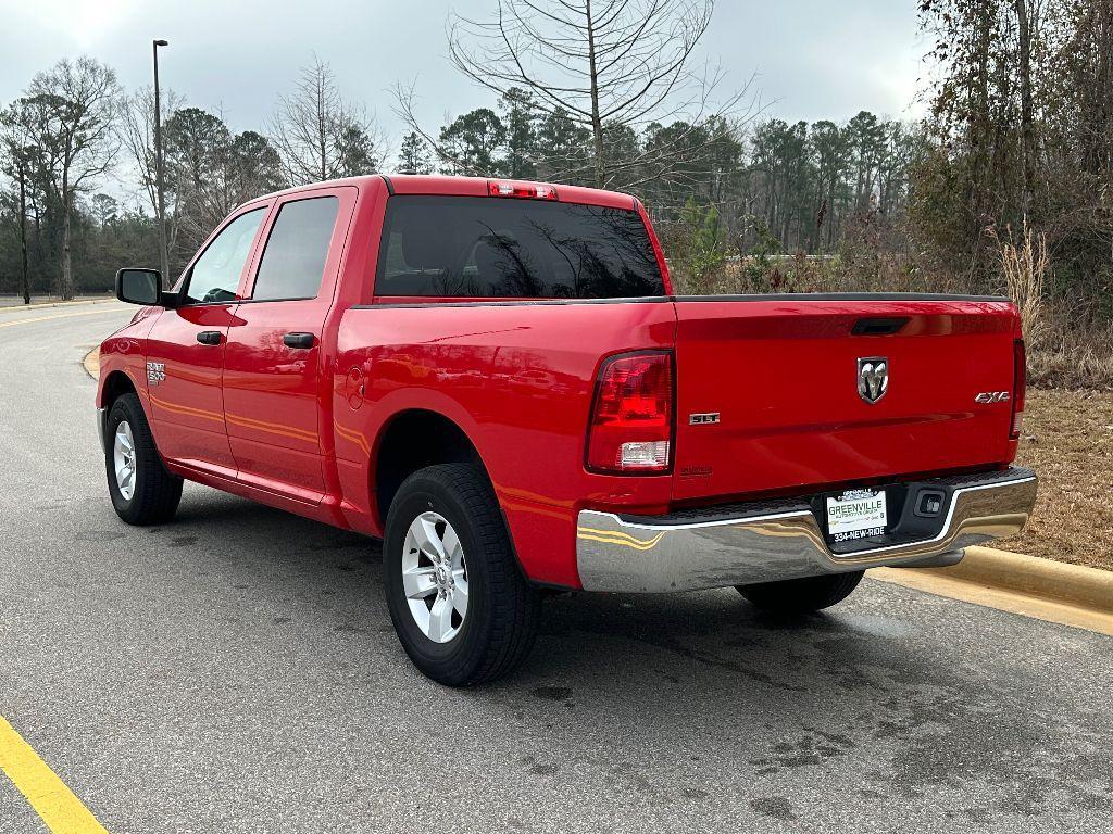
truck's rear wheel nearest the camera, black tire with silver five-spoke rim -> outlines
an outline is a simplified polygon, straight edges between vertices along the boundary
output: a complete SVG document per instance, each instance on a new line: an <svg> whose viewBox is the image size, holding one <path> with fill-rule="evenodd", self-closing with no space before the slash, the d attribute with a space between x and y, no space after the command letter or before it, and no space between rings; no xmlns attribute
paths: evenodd
<svg viewBox="0 0 1113 834"><path fill-rule="evenodd" d="M506 675L536 636L540 594L519 569L490 483L467 464L430 466L403 481L386 516L383 589L410 659L445 686Z"/></svg>

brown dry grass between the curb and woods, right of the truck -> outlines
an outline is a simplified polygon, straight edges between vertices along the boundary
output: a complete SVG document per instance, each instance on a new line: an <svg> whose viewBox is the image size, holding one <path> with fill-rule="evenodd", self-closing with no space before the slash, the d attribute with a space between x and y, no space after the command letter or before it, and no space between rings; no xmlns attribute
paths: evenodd
<svg viewBox="0 0 1113 834"><path fill-rule="evenodd" d="M1040 492L1004 549L1113 570L1113 394L1030 389L1016 459Z"/></svg>

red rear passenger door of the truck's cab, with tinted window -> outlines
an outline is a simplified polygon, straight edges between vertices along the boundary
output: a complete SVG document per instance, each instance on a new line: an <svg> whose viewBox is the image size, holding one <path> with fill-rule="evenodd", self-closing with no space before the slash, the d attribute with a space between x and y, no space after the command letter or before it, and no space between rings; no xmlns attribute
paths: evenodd
<svg viewBox="0 0 1113 834"><path fill-rule="evenodd" d="M325 492L322 408L331 408L322 330L355 196L352 187L302 191L276 206L224 356L239 479L313 503Z"/></svg>

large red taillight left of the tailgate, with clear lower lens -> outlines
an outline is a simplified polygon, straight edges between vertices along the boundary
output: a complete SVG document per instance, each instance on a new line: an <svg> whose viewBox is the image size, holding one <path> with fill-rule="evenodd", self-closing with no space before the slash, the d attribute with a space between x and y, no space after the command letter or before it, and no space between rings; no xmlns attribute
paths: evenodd
<svg viewBox="0 0 1113 834"><path fill-rule="evenodd" d="M610 474L667 473L672 465L672 354L612 356L599 371L588 469Z"/></svg>

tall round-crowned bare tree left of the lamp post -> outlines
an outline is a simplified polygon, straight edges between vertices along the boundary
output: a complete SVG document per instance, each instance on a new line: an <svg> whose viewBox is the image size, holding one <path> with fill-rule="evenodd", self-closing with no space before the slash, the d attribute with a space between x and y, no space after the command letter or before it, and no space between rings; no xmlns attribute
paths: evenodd
<svg viewBox="0 0 1113 834"><path fill-rule="evenodd" d="M33 162L62 217L62 298L73 297L70 225L77 195L112 165L119 99L116 72L88 57L62 59L38 73L21 99L27 145L35 148Z"/></svg>

